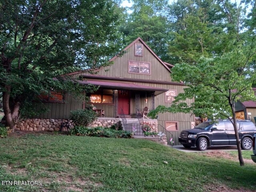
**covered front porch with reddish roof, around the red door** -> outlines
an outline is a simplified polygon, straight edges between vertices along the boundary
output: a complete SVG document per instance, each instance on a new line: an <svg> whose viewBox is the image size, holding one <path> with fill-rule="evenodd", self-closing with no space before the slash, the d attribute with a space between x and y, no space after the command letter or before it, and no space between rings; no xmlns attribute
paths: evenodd
<svg viewBox="0 0 256 192"><path fill-rule="evenodd" d="M167 89L133 83L98 80L82 81L82 84L99 86L97 92L89 94L90 103L104 110L104 117L148 119L147 112L155 108L155 96Z"/></svg>

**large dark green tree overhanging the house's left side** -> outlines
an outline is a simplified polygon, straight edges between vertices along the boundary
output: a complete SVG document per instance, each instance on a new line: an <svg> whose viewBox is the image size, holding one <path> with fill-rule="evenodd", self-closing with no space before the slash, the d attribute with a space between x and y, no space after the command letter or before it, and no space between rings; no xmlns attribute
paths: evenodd
<svg viewBox="0 0 256 192"><path fill-rule="evenodd" d="M63 74L109 64L119 51L119 15L111 0L0 0L0 92L10 128L34 96L77 90Z"/></svg>

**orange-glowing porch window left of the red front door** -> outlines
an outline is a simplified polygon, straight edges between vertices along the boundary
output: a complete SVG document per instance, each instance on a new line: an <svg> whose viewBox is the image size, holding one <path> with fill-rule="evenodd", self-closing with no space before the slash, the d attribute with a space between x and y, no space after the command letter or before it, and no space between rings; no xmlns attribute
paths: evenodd
<svg viewBox="0 0 256 192"><path fill-rule="evenodd" d="M90 102L92 103L114 103L113 90L98 90L95 94L90 95Z"/></svg>

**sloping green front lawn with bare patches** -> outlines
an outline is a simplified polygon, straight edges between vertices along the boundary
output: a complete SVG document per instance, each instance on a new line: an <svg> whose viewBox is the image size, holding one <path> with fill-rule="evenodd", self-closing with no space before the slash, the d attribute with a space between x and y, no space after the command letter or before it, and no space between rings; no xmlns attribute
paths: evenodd
<svg viewBox="0 0 256 192"><path fill-rule="evenodd" d="M256 164L185 153L148 140L27 134L0 139L2 192L207 192L256 190ZM5 183L4 183L5 184Z"/></svg>

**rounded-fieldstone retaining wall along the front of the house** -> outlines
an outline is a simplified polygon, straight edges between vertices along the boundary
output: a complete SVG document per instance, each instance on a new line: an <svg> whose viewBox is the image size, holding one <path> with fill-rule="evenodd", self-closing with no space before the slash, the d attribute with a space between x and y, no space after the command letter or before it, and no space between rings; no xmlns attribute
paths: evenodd
<svg viewBox="0 0 256 192"><path fill-rule="evenodd" d="M67 120L64 120L65 122ZM61 125L61 119L26 119L18 122L15 129L21 131L59 131ZM121 126L119 118L97 118L92 122L93 127L103 126ZM71 128L74 126L71 122ZM62 128L62 131L67 131L67 128Z"/></svg>

